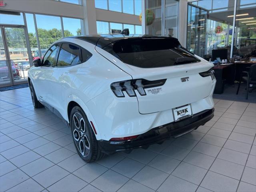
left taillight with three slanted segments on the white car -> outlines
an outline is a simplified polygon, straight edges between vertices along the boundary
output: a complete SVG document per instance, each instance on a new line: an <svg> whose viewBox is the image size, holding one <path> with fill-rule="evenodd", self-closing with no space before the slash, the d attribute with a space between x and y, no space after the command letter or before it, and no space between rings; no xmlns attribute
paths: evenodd
<svg viewBox="0 0 256 192"><path fill-rule="evenodd" d="M114 82L110 85L111 90L117 97L124 97L124 91L130 97L136 96L134 90L137 90L141 96L146 95L145 88L152 88L164 85L166 79L149 81L146 79L135 79L135 80L127 80Z"/></svg>

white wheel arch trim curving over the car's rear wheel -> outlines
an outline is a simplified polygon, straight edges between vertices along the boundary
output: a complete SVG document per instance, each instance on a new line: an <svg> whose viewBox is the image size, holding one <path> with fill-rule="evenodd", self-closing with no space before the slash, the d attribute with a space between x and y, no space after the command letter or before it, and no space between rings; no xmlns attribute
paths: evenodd
<svg viewBox="0 0 256 192"><path fill-rule="evenodd" d="M96 139L100 140L102 137L100 135L100 131L97 127L97 123L95 122L92 114L90 113L86 104L84 104L84 102L82 102L82 100L74 94L71 94L71 95L68 96L68 102L67 102L67 108L66 108L67 109L66 110L66 121L69 123L71 110L74 106L79 106L80 108L82 108L82 110L84 111L84 113L86 114L86 116L88 118L89 123L91 124L91 122L92 122L93 125L94 125L96 133L94 132L94 130L93 130L93 132L94 132L94 135L95 135ZM91 127L92 127L92 124L91 124Z"/></svg>

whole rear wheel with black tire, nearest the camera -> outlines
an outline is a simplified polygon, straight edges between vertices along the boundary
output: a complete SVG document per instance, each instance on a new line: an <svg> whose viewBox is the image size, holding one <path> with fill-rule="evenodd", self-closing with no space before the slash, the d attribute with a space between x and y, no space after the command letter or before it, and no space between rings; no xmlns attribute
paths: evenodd
<svg viewBox="0 0 256 192"><path fill-rule="evenodd" d="M82 108L74 106L70 113L70 128L76 151L86 162L94 162L105 156Z"/></svg>

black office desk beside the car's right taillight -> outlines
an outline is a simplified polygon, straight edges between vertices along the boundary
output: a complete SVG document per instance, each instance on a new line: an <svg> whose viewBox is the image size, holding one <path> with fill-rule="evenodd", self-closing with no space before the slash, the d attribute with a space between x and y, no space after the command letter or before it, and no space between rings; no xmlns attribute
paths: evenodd
<svg viewBox="0 0 256 192"><path fill-rule="evenodd" d="M234 83L235 65L234 63L228 65L215 65L213 69L216 78L214 94L222 94L225 84Z"/></svg>

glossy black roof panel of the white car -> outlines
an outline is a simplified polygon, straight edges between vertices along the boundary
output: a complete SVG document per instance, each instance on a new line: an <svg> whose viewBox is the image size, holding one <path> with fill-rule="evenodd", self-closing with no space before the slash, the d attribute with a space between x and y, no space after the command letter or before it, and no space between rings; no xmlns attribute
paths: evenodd
<svg viewBox="0 0 256 192"><path fill-rule="evenodd" d="M128 39L128 38L172 38L172 37L164 37L164 36L153 36L153 35L139 35L139 34L132 34L132 35L122 35L122 34L102 34L102 35L90 35L90 36L72 36L68 38L76 38L80 40L84 40L91 44L94 44L100 48L107 46L110 43L113 43L118 40ZM176 38L173 38L177 41Z"/></svg>

